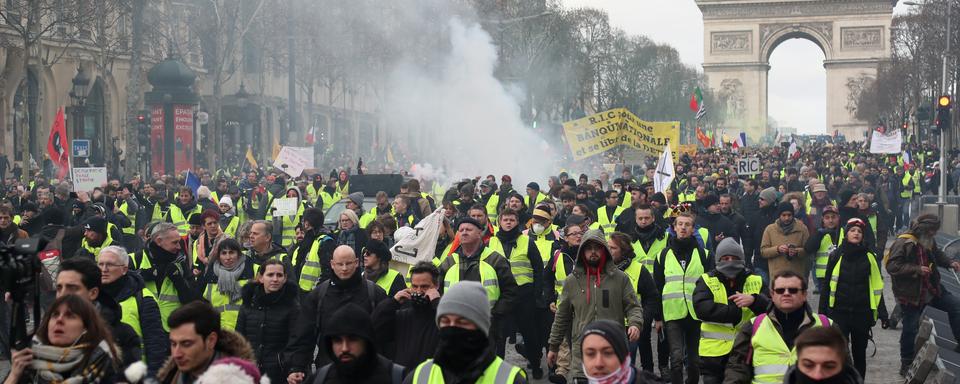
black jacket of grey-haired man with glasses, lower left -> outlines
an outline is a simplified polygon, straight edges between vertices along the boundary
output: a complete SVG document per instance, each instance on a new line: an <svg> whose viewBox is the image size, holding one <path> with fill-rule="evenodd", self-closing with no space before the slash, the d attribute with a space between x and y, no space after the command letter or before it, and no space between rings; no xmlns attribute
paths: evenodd
<svg viewBox="0 0 960 384"><path fill-rule="evenodd" d="M110 295L117 303L122 303L134 297L137 300L137 313L140 320L140 332L143 334L143 353L147 357L147 367L151 375L163 366L163 362L170 356L170 340L163 330L163 320L160 316L160 307L157 300L143 296L143 278L135 271L128 272L119 280L102 287L105 294ZM126 356L124 356L126 357Z"/></svg>

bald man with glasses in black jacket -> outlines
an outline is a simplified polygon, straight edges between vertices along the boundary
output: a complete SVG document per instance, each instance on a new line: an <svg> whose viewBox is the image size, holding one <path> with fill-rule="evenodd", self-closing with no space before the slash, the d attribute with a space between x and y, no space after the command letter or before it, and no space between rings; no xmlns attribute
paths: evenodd
<svg viewBox="0 0 960 384"><path fill-rule="evenodd" d="M301 300L297 328L287 344L286 359L290 363L287 381L291 384L302 383L311 376L310 357L315 348L320 347L316 366L330 363L326 347L320 342L330 325L331 315L337 309L354 303L372 314L377 303L387 298L382 288L360 275L360 260L350 246L341 245L334 249L330 265L324 267L330 268L333 274Z"/></svg>

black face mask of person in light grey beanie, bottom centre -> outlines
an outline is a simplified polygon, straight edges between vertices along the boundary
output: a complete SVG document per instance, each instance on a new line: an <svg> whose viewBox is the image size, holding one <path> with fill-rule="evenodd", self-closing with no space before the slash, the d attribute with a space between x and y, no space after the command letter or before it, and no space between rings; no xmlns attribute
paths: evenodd
<svg viewBox="0 0 960 384"><path fill-rule="evenodd" d="M490 344L483 331L466 330L460 327L440 328L437 336L437 351L433 360L437 365L453 372L462 372L477 361Z"/></svg>

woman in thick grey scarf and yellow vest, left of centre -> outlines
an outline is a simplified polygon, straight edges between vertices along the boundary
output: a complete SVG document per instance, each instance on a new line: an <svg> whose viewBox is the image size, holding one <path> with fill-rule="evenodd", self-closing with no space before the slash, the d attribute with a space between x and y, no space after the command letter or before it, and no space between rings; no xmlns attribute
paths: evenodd
<svg viewBox="0 0 960 384"><path fill-rule="evenodd" d="M243 303L241 289L253 278L253 266L235 239L221 240L210 255L200 286L203 287L203 298L220 312L223 329L232 331L237 326Z"/></svg>

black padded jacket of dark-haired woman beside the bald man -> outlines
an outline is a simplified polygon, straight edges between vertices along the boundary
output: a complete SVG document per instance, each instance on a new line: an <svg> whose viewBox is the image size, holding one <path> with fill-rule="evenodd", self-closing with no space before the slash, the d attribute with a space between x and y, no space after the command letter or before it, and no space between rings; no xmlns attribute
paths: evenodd
<svg viewBox="0 0 960 384"><path fill-rule="evenodd" d="M282 383L287 378L283 351L300 315L299 293L300 289L291 281L269 294L263 290L263 284L243 287L237 332L250 342L260 371L271 382Z"/></svg>

